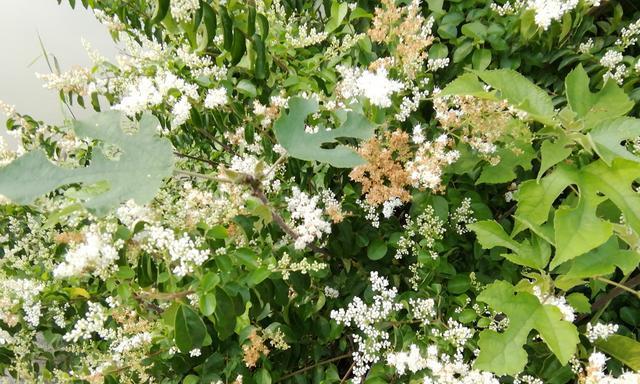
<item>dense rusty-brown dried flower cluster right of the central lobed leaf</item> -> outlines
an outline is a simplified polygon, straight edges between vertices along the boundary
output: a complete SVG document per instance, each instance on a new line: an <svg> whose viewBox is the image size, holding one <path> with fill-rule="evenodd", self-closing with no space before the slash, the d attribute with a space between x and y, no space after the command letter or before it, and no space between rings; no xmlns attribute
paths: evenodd
<svg viewBox="0 0 640 384"><path fill-rule="evenodd" d="M358 153L367 164L355 167L349 177L362 184L362 192L370 205L377 206L393 198L403 202L411 199L405 189L411 184L404 167L411 157L406 132L386 132L382 140L373 137L359 148Z"/></svg>

